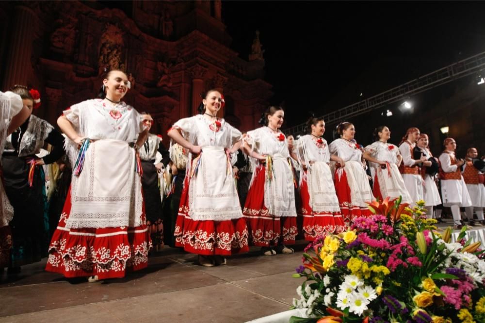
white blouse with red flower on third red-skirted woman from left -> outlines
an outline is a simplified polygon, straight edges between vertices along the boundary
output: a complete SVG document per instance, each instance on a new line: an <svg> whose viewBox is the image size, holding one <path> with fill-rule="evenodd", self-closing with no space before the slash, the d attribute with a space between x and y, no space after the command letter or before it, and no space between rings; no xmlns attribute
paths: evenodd
<svg viewBox="0 0 485 323"><path fill-rule="evenodd" d="M261 155L274 156L279 154L285 158L290 157L286 136L282 132L274 133L268 127L248 131L244 141Z"/></svg>

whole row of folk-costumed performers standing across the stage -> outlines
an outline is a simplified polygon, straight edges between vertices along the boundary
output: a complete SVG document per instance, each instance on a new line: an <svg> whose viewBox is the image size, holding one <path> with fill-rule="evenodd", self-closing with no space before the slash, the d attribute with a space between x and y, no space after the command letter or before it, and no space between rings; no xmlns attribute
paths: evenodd
<svg viewBox="0 0 485 323"><path fill-rule="evenodd" d="M417 128L397 146L378 127L363 147L342 122L328 144L323 118L312 116L295 140L281 132L284 110L274 106L242 134L217 117L224 97L209 90L199 114L168 130L165 146L149 132L150 114L123 101L129 87L124 72L107 73L98 98L58 118L62 133L32 114L37 91L0 92L2 270L15 274L48 257L46 270L65 277L119 278L145 268L149 251L164 244L208 267L250 245L291 254L297 237L342 232L370 215L366 203L386 197L424 200L438 221L435 208L450 207L456 228L462 207L470 225L474 212L485 224L485 162L475 148L458 159L452 138L436 159Z"/></svg>

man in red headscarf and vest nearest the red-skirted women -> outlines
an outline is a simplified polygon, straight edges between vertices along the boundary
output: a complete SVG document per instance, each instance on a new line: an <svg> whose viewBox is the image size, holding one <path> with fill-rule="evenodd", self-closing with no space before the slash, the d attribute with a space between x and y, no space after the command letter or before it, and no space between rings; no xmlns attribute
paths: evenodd
<svg viewBox="0 0 485 323"><path fill-rule="evenodd" d="M415 127L409 128L399 144L399 150L403 156L401 173L403 174L404 185L413 201L413 206L416 205L416 202L424 198L423 178L420 175L420 164L427 161L427 159L424 156L421 156L420 159L413 159L414 147L416 146L419 136L420 129Z"/></svg>

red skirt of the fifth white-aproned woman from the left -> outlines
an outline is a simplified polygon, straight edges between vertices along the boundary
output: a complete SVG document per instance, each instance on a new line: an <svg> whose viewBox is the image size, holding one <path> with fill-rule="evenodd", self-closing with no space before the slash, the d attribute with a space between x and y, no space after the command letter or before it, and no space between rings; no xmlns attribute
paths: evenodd
<svg viewBox="0 0 485 323"><path fill-rule="evenodd" d="M359 216L371 216L372 212L367 207L359 207L352 204L352 197L350 194L350 187L347 181L347 173L342 170L342 174L339 178L335 170L335 192L339 199L340 211L342 212L343 222L347 226L351 226L355 218Z"/></svg>

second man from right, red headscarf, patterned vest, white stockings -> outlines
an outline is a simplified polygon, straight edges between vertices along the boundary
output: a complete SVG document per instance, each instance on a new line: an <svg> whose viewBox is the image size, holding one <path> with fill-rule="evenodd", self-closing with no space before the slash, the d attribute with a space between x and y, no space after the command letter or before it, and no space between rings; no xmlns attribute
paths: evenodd
<svg viewBox="0 0 485 323"><path fill-rule="evenodd" d="M456 142L453 138L446 138L443 145L445 150L439 156L443 206L451 208L455 228L461 229L463 225L460 207L466 208L472 205L467 185L460 170L465 160L456 158Z"/></svg>

